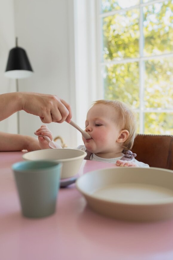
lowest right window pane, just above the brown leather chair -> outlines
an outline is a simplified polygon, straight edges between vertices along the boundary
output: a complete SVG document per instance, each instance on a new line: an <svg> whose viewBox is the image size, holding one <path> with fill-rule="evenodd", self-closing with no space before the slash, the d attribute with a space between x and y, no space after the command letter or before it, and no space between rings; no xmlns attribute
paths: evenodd
<svg viewBox="0 0 173 260"><path fill-rule="evenodd" d="M173 113L146 113L144 133L173 135Z"/></svg>

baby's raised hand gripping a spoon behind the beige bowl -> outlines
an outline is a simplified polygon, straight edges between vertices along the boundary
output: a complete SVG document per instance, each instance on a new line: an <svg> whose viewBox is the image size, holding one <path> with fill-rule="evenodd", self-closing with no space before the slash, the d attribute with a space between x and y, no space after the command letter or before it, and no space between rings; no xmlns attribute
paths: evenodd
<svg viewBox="0 0 173 260"><path fill-rule="evenodd" d="M42 136L48 136L50 140L52 141L53 135L52 132L49 130L47 125L43 124L38 130L36 130L35 134L38 136L39 139L39 146L41 149L49 149L48 141L44 139ZM42 136L39 136L42 135Z"/></svg>

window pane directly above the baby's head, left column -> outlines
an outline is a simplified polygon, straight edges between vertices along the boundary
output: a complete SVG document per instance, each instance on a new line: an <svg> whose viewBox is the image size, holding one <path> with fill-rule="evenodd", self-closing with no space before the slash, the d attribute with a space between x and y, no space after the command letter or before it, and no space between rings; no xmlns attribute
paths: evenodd
<svg viewBox="0 0 173 260"><path fill-rule="evenodd" d="M103 69L104 98L139 107L139 66L137 62L110 64Z"/></svg>

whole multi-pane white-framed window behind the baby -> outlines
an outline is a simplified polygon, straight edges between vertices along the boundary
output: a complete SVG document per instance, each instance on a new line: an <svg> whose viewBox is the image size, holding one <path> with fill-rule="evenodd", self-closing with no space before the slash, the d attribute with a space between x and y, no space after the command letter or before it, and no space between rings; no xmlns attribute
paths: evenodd
<svg viewBox="0 0 173 260"><path fill-rule="evenodd" d="M173 134L173 0L100 0L101 89L131 104L138 133Z"/></svg>

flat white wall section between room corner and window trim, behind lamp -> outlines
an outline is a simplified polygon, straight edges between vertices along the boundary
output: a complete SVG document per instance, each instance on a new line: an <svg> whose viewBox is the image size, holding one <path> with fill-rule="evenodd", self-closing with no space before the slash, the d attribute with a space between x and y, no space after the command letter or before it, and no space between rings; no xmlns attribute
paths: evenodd
<svg viewBox="0 0 173 260"><path fill-rule="evenodd" d="M19 91L58 95L71 104L75 121L73 0L14 0L14 14L18 45L34 70L32 77L19 80ZM41 124L39 117L20 112L21 134L34 136ZM76 130L66 122L48 127L54 137L76 146Z"/></svg>

